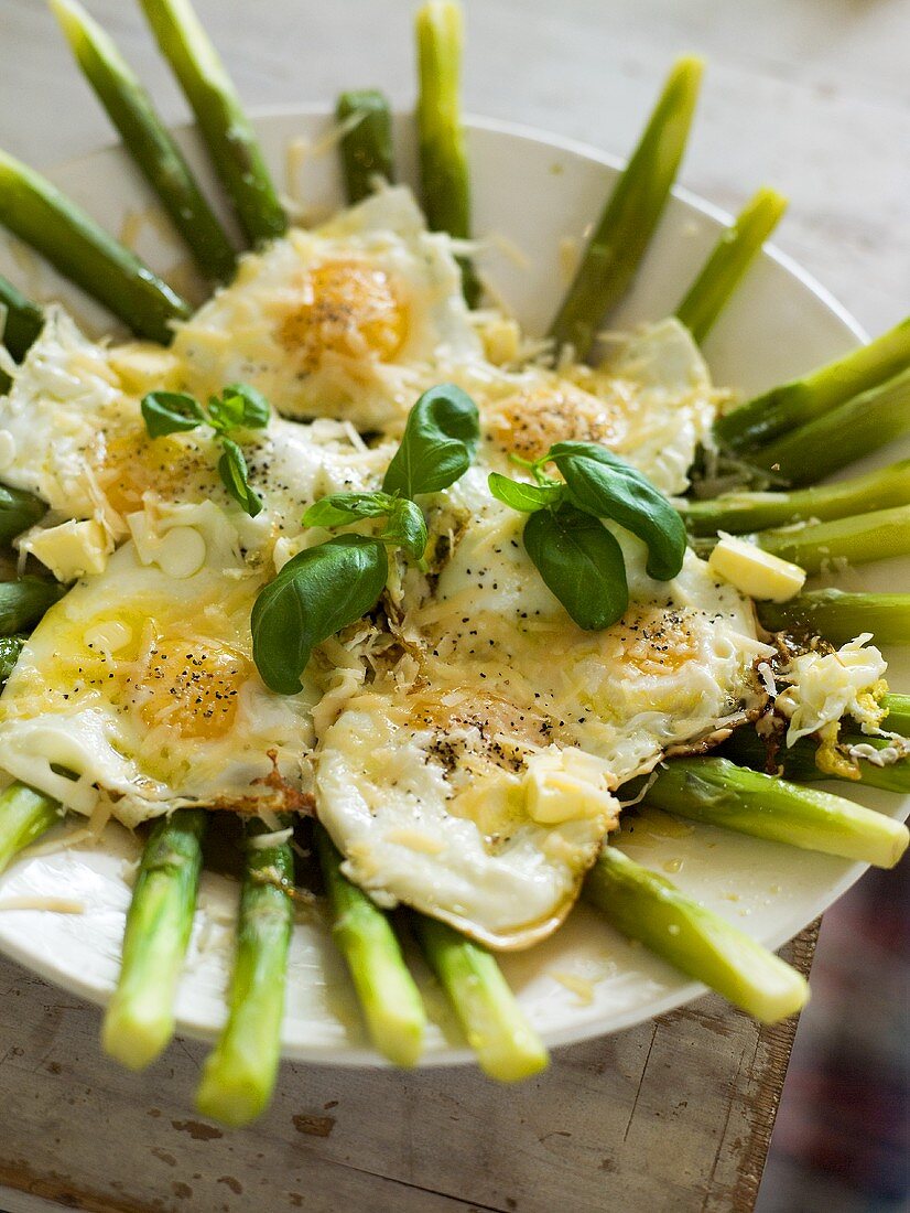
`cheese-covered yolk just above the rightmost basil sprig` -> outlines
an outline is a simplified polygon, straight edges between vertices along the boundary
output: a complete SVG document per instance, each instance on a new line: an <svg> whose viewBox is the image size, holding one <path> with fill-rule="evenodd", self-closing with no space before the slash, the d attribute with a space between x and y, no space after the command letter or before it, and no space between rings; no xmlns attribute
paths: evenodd
<svg viewBox="0 0 910 1213"><path fill-rule="evenodd" d="M596 397L565 383L528 388L502 403L493 421L493 438L522 459L539 459L554 443L605 443L620 434L619 417Z"/></svg>

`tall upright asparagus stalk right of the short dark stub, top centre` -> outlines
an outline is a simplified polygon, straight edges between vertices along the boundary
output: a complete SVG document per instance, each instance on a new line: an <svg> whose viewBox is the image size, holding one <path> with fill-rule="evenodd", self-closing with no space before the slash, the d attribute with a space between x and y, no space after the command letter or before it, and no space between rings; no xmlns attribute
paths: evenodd
<svg viewBox="0 0 910 1213"><path fill-rule="evenodd" d="M420 200L434 232L457 239L471 234L470 175L460 115L463 19L454 0L429 0L418 10L417 135ZM468 307L475 307L481 285L471 262L458 258Z"/></svg>

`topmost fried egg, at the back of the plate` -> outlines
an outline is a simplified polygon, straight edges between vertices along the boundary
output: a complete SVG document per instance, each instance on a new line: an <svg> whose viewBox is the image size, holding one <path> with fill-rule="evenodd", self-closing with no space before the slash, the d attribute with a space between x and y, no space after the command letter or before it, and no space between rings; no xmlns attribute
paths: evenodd
<svg viewBox="0 0 910 1213"><path fill-rule="evenodd" d="M286 416L393 432L441 366L481 349L450 240L405 188L248 254L173 342L198 394L240 380Z"/></svg>

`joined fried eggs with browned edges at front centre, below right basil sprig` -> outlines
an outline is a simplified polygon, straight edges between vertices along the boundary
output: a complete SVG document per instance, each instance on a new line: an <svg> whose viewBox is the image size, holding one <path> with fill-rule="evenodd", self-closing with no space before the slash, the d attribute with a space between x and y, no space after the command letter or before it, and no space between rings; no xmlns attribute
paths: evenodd
<svg viewBox="0 0 910 1213"><path fill-rule="evenodd" d="M654 581L613 524L629 609L576 627L525 552L525 516L487 492L491 466L493 443L446 495L435 524L453 551L435 583L400 596L404 656L321 736L316 788L345 871L380 904L514 949L571 909L619 785L757 710L754 668L773 650L694 553Z"/></svg>

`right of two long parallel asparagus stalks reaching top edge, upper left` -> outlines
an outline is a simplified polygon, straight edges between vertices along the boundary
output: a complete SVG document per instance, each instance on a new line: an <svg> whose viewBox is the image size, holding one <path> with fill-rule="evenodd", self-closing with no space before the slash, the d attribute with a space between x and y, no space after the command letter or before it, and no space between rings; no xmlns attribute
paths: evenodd
<svg viewBox="0 0 910 1213"><path fill-rule="evenodd" d="M212 163L251 244L282 235L279 201L256 132L189 0L141 0L145 19L196 115Z"/></svg>

